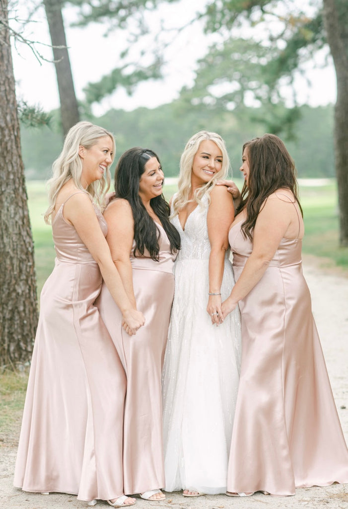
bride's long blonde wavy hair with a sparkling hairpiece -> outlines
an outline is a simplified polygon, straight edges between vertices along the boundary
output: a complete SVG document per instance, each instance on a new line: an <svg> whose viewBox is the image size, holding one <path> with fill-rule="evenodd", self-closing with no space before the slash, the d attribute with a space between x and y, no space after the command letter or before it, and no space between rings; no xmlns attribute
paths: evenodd
<svg viewBox="0 0 348 509"><path fill-rule="evenodd" d="M213 178L209 180L202 187L196 189L192 199L189 199L191 193L191 174L192 164L195 155L198 152L201 142L209 139L214 142L223 154L223 164L219 172L214 174ZM227 177L230 169L230 159L227 153L226 145L223 138L216 132L210 132L206 130L199 131L189 138L183 153L180 157L180 174L178 180L178 192L172 201L173 213L175 216L179 210L189 202L196 201L199 205L202 205L203 196L208 195L208 203L210 203L210 192L216 184L217 180L223 180Z"/></svg>

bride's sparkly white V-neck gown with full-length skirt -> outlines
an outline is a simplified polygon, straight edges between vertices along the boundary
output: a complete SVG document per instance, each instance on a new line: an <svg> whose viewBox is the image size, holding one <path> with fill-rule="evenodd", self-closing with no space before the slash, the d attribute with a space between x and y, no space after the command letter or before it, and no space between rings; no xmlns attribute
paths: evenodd
<svg viewBox="0 0 348 509"><path fill-rule="evenodd" d="M174 264L175 293L163 369L166 491L225 493L239 380L241 333L238 308L219 327L206 312L210 243L208 200L188 216ZM226 254L221 287L234 285Z"/></svg>

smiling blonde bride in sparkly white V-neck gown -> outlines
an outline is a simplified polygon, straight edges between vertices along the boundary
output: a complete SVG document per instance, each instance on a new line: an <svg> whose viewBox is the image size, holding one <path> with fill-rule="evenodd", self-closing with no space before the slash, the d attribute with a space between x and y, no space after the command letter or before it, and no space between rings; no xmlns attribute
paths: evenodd
<svg viewBox="0 0 348 509"><path fill-rule="evenodd" d="M231 196L215 186L229 171L224 140L200 131L180 159L172 223L181 249L163 371L166 490L184 496L225 493L239 379L240 316L224 321L234 285L228 230Z"/></svg>

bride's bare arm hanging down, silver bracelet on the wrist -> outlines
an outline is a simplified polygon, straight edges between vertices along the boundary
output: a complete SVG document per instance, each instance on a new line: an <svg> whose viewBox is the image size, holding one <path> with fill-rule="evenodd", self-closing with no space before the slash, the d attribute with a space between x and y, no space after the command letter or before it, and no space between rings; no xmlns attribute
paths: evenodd
<svg viewBox="0 0 348 509"><path fill-rule="evenodd" d="M233 203L225 187L214 187L207 214L209 256L209 293L220 294L224 275L225 253L229 247L228 232L234 218ZM209 295L207 313L213 324L223 321L221 295Z"/></svg>

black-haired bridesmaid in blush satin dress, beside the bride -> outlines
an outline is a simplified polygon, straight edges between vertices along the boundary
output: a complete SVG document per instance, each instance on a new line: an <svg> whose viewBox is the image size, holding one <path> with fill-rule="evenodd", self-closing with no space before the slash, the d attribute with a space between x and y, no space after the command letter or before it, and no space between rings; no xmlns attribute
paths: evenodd
<svg viewBox="0 0 348 509"><path fill-rule="evenodd" d="M137 147L126 151L116 168L116 192L104 212L112 259L130 301L146 317L145 326L134 338L122 331L121 312L107 285L97 302L126 377L124 492L153 501L165 498L161 371L174 294L173 263L180 246L163 181L154 152Z"/></svg>

